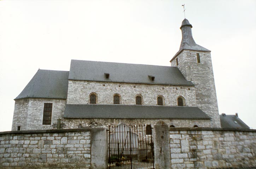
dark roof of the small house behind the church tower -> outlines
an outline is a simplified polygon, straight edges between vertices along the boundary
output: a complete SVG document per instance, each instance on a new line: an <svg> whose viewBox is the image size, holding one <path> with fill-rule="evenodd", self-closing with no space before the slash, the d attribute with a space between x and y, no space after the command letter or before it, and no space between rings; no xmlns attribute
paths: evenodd
<svg viewBox="0 0 256 169"><path fill-rule="evenodd" d="M246 125L236 115L221 114L220 123L221 127L224 129L250 129L250 127Z"/></svg>

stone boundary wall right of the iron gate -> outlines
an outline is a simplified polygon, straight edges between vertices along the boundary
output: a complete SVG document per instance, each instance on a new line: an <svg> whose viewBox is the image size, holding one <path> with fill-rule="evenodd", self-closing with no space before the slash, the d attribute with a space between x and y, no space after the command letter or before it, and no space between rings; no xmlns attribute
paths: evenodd
<svg viewBox="0 0 256 169"><path fill-rule="evenodd" d="M169 130L173 169L256 167L256 130Z"/></svg>

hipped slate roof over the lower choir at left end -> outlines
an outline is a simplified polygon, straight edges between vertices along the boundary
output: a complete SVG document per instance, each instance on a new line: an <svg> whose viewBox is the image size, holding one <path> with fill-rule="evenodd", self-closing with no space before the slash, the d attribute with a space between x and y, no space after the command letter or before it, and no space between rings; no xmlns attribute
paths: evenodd
<svg viewBox="0 0 256 169"><path fill-rule="evenodd" d="M21 94L14 100L22 98L66 99L68 76L69 71L39 69Z"/></svg>

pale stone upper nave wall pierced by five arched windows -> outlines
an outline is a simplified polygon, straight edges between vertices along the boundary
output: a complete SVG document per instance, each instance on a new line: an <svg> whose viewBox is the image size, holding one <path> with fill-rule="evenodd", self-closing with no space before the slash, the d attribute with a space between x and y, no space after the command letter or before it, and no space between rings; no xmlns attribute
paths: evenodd
<svg viewBox="0 0 256 169"><path fill-rule="evenodd" d="M141 94L144 105L157 105L157 96L161 95L166 106L177 106L178 96L185 98L186 106L197 106L193 86L74 80L69 80L67 104L89 104L89 95L92 92L97 93L97 104L113 104L114 94L120 94L120 104L135 105L136 95Z"/></svg>

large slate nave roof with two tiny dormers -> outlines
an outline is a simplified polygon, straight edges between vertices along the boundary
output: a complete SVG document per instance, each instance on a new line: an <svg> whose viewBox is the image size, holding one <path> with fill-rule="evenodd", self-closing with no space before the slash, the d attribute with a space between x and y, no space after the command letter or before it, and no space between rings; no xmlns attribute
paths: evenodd
<svg viewBox="0 0 256 169"><path fill-rule="evenodd" d="M69 80L194 86L176 67L80 60L71 60Z"/></svg>

